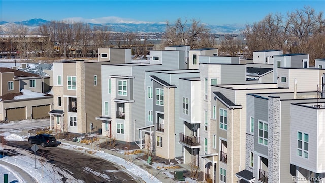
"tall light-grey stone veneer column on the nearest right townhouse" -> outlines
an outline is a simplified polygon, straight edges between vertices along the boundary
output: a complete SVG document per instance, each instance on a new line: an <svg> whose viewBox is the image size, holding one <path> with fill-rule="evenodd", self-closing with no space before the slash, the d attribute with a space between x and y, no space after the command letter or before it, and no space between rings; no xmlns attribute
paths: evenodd
<svg viewBox="0 0 325 183"><path fill-rule="evenodd" d="M280 182L280 97L269 96L268 181Z"/></svg>

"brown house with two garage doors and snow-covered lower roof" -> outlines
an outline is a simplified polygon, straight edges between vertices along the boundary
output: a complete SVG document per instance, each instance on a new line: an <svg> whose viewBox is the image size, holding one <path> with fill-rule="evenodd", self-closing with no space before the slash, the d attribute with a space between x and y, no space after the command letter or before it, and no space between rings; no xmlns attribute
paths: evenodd
<svg viewBox="0 0 325 183"><path fill-rule="evenodd" d="M44 79L28 72L0 68L0 120L21 120L48 116L53 96L43 93Z"/></svg>

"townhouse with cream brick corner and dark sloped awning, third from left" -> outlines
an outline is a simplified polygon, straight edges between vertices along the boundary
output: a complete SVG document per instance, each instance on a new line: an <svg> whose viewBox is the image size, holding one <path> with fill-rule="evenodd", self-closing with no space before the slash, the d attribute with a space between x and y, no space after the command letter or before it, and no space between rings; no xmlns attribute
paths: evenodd
<svg viewBox="0 0 325 183"><path fill-rule="evenodd" d="M180 85L183 84L180 78L184 77L198 78L199 71L189 69L146 71L145 127L154 125L155 128L151 133L152 136L144 137L147 140L145 144L154 142L152 149L155 155L166 159L183 156L183 148L179 142L182 138L180 134L184 132L184 123L179 116L181 111L182 114L189 115L189 99L188 96L183 96L187 91L180 90ZM184 111L180 110L184 106Z"/></svg>

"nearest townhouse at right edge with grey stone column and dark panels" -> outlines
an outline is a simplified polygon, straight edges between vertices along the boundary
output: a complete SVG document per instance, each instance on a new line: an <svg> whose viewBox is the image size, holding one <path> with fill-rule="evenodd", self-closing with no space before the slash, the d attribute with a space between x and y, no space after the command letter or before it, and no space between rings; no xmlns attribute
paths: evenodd
<svg viewBox="0 0 325 183"><path fill-rule="evenodd" d="M236 174L239 180L296 182L297 174L308 176L302 167L316 163L313 157L317 157L316 139L319 134L313 134L314 140L309 140L308 137L311 137L309 134L312 131L317 131L313 128L317 124L317 120L314 120L317 115L312 120L311 116L307 117L308 120L302 123L302 119L307 118L302 116L301 110L296 109L299 105L293 106L292 103L325 101L319 95L317 91L247 94L246 163L245 170ZM292 123L293 119L295 124ZM302 143L305 143L305 148ZM312 152L309 147L315 147L313 155L308 154ZM297 165L303 166L297 168ZM308 169L308 172L309 170L318 171Z"/></svg>

